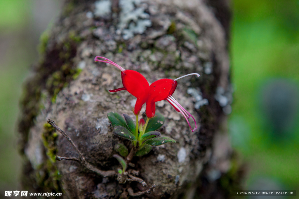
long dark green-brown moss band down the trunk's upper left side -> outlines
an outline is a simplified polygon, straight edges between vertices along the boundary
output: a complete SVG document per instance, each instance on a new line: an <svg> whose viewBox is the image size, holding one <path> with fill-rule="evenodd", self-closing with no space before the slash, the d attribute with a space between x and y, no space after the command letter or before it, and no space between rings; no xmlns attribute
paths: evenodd
<svg viewBox="0 0 299 199"><path fill-rule="evenodd" d="M42 36L42 44L44 46L48 42L48 37ZM39 113L41 91L46 90L52 102L55 102L57 94L62 88L78 76L79 72L74 66L72 58L77 53L77 43L71 38L67 38L62 43L52 43L51 49L46 49L43 59L38 67L35 68L36 75L31 78L24 88L21 100L22 120L19 123L19 132L23 134L23 152L26 140L28 139L28 130L33 125L33 120ZM48 95L47 95L48 96Z"/></svg>

